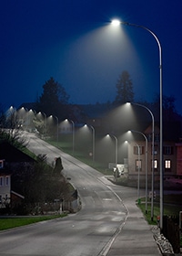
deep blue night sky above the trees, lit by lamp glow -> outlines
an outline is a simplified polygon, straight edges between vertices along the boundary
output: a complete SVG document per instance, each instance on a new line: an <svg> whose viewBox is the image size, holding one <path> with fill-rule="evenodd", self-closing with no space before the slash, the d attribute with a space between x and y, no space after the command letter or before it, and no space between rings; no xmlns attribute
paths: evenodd
<svg viewBox="0 0 182 256"><path fill-rule="evenodd" d="M163 92L176 98L182 113L181 13L181 0L0 1L0 103L35 101L51 76L72 103L113 101L123 70L136 100L153 101L159 94L157 41L141 28L111 27L118 17L157 35Z"/></svg>

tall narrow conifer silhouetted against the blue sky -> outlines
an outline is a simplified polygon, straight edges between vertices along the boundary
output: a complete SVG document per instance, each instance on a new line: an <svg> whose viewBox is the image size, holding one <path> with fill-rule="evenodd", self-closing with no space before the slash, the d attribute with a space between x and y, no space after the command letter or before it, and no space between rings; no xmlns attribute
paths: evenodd
<svg viewBox="0 0 182 256"><path fill-rule="evenodd" d="M129 73L123 71L116 82L116 99L114 104L120 105L134 101L133 84Z"/></svg>

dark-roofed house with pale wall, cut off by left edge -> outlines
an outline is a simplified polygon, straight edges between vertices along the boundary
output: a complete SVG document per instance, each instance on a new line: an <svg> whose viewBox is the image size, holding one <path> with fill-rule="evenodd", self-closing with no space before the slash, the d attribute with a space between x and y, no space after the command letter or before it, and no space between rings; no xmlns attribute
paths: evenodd
<svg viewBox="0 0 182 256"><path fill-rule="evenodd" d="M0 144L0 208L11 203L20 204L24 199L21 187L14 182L15 176L21 176L34 168L35 160L25 155L8 142Z"/></svg>

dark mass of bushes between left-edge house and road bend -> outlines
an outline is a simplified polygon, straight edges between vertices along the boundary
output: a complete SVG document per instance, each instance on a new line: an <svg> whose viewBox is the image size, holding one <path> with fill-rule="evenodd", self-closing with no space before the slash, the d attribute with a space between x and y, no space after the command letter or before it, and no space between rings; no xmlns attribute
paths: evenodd
<svg viewBox="0 0 182 256"><path fill-rule="evenodd" d="M13 174L13 189L25 197L25 208L22 208L21 214L30 213L38 206L43 207L45 203L49 204L55 199L69 196L68 183L61 174L62 161L60 157L57 159L56 172L47 165L46 155L37 155L32 169L20 169Z"/></svg>

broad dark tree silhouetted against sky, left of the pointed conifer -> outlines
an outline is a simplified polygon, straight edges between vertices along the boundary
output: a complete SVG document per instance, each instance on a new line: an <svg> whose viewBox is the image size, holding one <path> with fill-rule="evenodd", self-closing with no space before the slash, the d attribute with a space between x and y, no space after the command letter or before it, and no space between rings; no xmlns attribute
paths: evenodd
<svg viewBox="0 0 182 256"><path fill-rule="evenodd" d="M69 95L65 88L53 77L45 81L43 93L37 102L38 111L45 112L47 115L59 115L61 107L67 104Z"/></svg>

